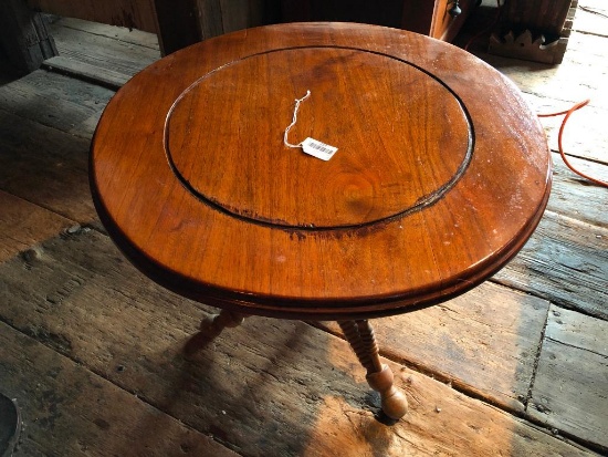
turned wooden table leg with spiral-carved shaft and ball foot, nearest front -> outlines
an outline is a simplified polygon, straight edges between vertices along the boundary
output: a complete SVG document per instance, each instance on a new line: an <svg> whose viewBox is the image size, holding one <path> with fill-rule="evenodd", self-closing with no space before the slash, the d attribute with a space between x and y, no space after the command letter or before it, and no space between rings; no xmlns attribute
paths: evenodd
<svg viewBox="0 0 608 457"><path fill-rule="evenodd" d="M391 419L400 419L408 412L406 395L392 385L394 375L387 365L382 365L374 330L367 320L338 322L344 335L357 354L357 359L367 370L367 383L379 392L382 411Z"/></svg>

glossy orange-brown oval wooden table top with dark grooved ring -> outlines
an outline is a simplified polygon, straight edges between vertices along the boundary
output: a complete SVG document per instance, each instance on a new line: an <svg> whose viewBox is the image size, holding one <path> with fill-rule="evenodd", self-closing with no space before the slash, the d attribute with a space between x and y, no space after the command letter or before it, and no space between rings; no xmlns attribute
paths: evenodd
<svg viewBox="0 0 608 457"><path fill-rule="evenodd" d="M329 160L284 144L312 137ZM364 319L444 301L523 246L545 134L473 55L376 25L297 23L170 54L107 105L91 186L158 283L243 313Z"/></svg>

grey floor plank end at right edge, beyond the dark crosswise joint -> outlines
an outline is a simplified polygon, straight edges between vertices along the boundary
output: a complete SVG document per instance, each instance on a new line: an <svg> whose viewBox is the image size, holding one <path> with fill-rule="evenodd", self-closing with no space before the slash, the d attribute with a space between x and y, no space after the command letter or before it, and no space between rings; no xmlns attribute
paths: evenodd
<svg viewBox="0 0 608 457"><path fill-rule="evenodd" d="M608 322L552 307L531 416L608 453Z"/></svg>

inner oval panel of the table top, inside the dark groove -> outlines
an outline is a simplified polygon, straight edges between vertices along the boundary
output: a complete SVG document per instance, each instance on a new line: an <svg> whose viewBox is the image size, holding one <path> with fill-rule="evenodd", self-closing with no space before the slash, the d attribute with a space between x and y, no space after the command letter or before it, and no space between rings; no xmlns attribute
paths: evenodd
<svg viewBox="0 0 608 457"><path fill-rule="evenodd" d="M283 144L294 98L308 90L290 139L337 146L328 163ZM222 65L177 98L165 125L169 163L190 193L237 218L310 230L373 225L432 205L458 181L472 145L461 102L432 74L337 46Z"/></svg>

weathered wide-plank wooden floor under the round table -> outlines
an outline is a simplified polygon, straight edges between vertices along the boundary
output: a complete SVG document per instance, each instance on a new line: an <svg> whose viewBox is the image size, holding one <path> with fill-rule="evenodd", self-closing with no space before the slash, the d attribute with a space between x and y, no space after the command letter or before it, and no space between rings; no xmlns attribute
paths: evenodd
<svg viewBox="0 0 608 457"><path fill-rule="evenodd" d="M579 1L562 65L471 50L537 112L590 97L565 145L606 180L604 1ZM251 318L184 355L212 310L123 259L87 181L101 112L159 58L156 38L69 19L52 30L60 58L0 76L0 393L22 413L15 456L608 454L607 189L554 154L548 210L502 272L443 305L375 322L410 399L387 426L334 324ZM558 120L543 124L555 148Z"/></svg>

